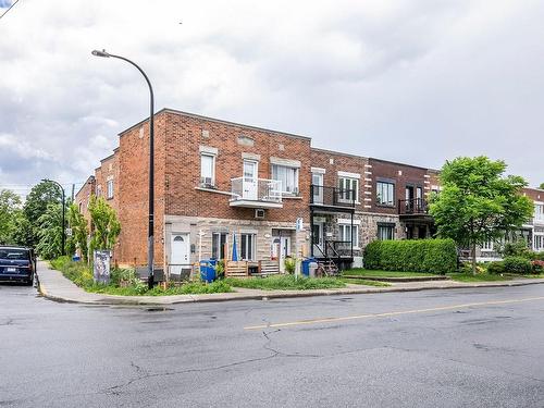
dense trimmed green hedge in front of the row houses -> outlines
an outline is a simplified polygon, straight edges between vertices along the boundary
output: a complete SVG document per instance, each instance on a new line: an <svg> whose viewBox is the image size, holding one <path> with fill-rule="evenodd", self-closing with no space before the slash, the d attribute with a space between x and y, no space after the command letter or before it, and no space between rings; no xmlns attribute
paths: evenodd
<svg viewBox="0 0 544 408"><path fill-rule="evenodd" d="M457 270L457 248L453 239L374 240L363 260L367 269L444 274Z"/></svg>

